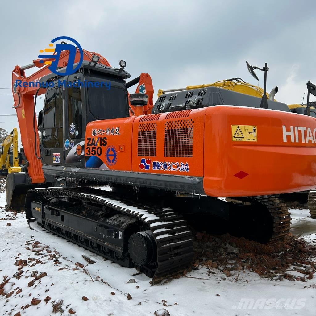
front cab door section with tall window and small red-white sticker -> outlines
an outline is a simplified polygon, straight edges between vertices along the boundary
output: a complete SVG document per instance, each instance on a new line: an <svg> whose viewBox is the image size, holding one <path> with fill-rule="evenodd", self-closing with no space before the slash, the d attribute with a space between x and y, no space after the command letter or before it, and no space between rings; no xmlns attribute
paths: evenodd
<svg viewBox="0 0 316 316"><path fill-rule="evenodd" d="M64 165L64 100L63 87L51 88L46 92L43 111L42 157L43 164ZM21 131L23 132L23 131Z"/></svg>

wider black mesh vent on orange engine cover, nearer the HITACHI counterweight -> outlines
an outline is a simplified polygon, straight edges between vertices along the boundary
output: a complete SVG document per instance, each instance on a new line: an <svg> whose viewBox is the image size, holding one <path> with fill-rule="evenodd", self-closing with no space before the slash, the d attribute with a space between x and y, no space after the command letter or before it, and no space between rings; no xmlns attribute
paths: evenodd
<svg viewBox="0 0 316 316"><path fill-rule="evenodd" d="M166 122L165 157L193 157L193 124L192 119Z"/></svg>

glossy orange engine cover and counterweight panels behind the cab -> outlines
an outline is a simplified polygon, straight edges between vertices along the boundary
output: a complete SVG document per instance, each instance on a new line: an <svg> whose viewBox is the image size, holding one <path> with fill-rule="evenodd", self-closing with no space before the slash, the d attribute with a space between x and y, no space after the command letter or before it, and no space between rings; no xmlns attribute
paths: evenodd
<svg viewBox="0 0 316 316"><path fill-rule="evenodd" d="M232 141L232 125L256 126L257 141ZM285 138L283 125L288 133ZM115 133L118 128L119 134ZM86 144L93 130L104 131L94 138L96 142L98 137L106 137L106 146L99 142L96 147L102 147L99 158L107 168L204 177L204 191L210 196L277 194L316 186L316 119L312 117L212 106L94 121L87 125ZM91 156L85 148L86 156Z"/></svg>

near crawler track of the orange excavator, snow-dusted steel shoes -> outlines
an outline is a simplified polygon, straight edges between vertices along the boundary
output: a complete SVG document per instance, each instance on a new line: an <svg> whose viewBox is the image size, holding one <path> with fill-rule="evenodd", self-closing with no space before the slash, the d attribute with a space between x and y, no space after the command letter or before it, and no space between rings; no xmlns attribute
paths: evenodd
<svg viewBox="0 0 316 316"><path fill-rule="evenodd" d="M153 277L153 283L159 282L166 276L172 275L187 266L193 258L193 237L191 229L181 215L170 208L159 208L157 204L145 200L135 200L135 197L126 195L122 197L116 192L102 191L87 187L79 188L45 188L32 189L26 197L26 204L41 200L44 204L56 197L68 197L83 204L93 204L100 207L111 208L118 214L134 217L149 229L155 239L157 261L155 264L143 267L141 270L147 276ZM52 225L45 221L42 212L42 224L49 231L68 240L82 245L100 255L109 258L109 247L102 240L95 240L81 234L80 231L67 229L65 226ZM84 220L84 217L81 217ZM119 258L111 260L120 263ZM124 264L127 265L127 264Z"/></svg>

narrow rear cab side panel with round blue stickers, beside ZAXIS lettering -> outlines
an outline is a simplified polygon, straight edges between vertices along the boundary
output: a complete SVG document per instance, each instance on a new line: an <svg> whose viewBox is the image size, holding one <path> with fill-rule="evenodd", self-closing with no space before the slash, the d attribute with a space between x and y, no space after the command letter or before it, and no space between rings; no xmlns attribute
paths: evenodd
<svg viewBox="0 0 316 316"><path fill-rule="evenodd" d="M86 111L84 88L69 76L65 88L64 149L65 166L85 167L84 139L86 131Z"/></svg>

